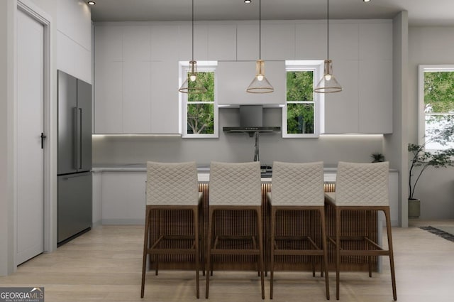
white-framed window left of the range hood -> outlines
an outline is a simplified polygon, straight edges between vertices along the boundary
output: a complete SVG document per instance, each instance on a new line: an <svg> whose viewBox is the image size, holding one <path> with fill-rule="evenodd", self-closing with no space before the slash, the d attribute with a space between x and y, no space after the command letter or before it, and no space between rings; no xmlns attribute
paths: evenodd
<svg viewBox="0 0 454 302"><path fill-rule="evenodd" d="M189 64L180 63L184 82ZM206 87L205 93L180 93L182 100L183 137L218 137L218 107L216 102L216 62L197 62L197 75Z"/></svg>

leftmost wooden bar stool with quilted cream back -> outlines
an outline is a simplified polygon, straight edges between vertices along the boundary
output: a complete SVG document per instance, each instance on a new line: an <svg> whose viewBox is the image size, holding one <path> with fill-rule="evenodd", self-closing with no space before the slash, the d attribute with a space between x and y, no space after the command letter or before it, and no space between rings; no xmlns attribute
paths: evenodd
<svg viewBox="0 0 454 302"><path fill-rule="evenodd" d="M145 267L147 255L154 256L157 275L159 258L166 254L192 255L196 271L196 297L199 298L199 214L201 212L201 193L197 181L195 162L189 163L147 163L147 203L145 215L145 236L143 239L142 287L145 290ZM176 232L166 226L165 211L192 212L192 223L179 225ZM153 212L157 212L153 219ZM161 221L162 220L162 221ZM175 229L175 227L173 228ZM157 238L152 239L152 230ZM203 239L202 239L203 246Z"/></svg>

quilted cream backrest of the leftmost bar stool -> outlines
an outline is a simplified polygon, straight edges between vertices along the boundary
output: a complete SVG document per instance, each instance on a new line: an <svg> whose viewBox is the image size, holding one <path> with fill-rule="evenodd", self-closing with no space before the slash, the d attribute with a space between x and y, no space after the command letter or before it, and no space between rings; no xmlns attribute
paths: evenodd
<svg viewBox="0 0 454 302"><path fill-rule="evenodd" d="M147 205L198 205L195 161L147 162Z"/></svg>

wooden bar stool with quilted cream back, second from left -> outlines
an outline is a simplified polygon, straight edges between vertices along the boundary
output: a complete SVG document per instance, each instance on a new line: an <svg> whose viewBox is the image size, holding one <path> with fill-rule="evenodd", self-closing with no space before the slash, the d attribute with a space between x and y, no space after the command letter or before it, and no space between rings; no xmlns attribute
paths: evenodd
<svg viewBox="0 0 454 302"><path fill-rule="evenodd" d="M244 211L256 213L254 234L218 234L215 232L216 211L236 211L238 220L246 223ZM209 216L206 252L206 295L209 296L210 271L214 255L254 255L261 278L262 299L265 298L263 277L262 190L260 163L211 162L209 183ZM233 230L233 232L238 230ZM232 242L240 242L235 244Z"/></svg>

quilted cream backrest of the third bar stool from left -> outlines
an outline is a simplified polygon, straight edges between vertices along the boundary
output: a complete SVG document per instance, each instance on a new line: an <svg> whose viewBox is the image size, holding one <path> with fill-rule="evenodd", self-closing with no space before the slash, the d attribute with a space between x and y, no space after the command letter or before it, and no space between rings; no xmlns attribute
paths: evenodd
<svg viewBox="0 0 454 302"><path fill-rule="evenodd" d="M323 205L323 161L272 164L272 205Z"/></svg>

